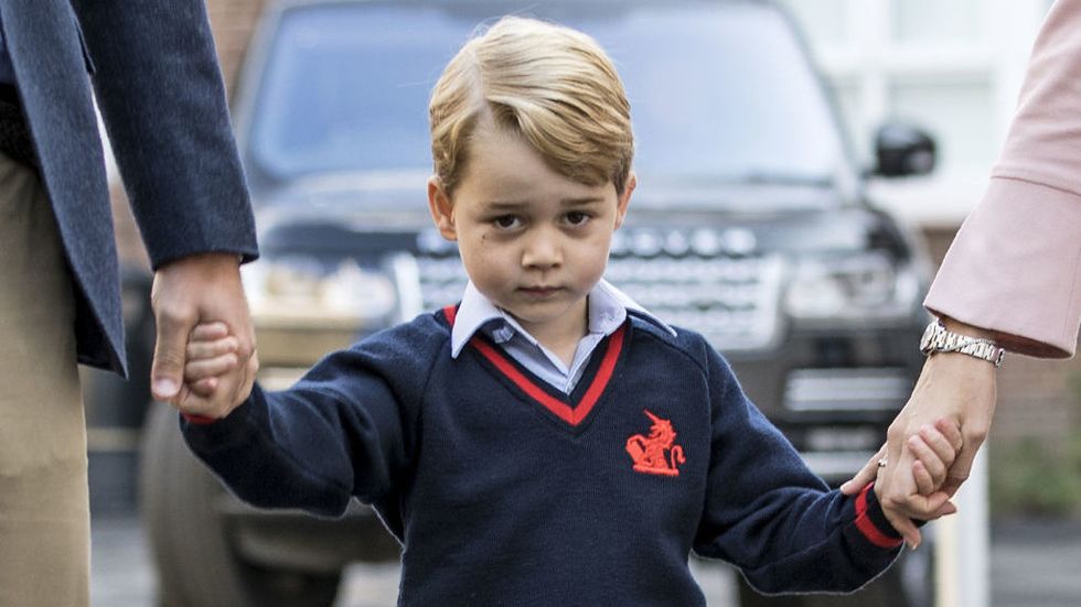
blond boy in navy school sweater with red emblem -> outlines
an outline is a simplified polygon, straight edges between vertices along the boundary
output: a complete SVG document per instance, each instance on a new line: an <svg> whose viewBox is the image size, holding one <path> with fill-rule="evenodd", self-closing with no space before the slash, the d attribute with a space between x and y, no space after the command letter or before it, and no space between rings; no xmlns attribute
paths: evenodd
<svg viewBox="0 0 1081 607"><path fill-rule="evenodd" d="M635 177L623 88L591 39L504 19L447 66L430 119L428 200L471 280L460 305L189 418L237 496L374 506L405 548L402 605L704 605L692 551L768 593L853 590L893 561L870 486L827 490L702 336L601 280ZM224 328L189 350L186 379L213 389ZM959 440L928 432L921 483Z"/></svg>

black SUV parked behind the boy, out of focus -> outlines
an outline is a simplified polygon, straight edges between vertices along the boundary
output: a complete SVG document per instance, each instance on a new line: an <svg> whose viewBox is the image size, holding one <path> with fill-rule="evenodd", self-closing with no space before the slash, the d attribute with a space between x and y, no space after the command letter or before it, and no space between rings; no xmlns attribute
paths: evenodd
<svg viewBox="0 0 1081 607"><path fill-rule="evenodd" d="M768 2L269 8L233 108L263 250L244 277L260 380L286 387L325 353L460 297L457 248L425 204L427 99L478 24L506 13L592 34L624 78L639 187L608 280L705 334L811 467L848 478L905 403L927 322L921 253L866 199L865 178L930 171L934 144L884 128L878 164L863 171L795 29ZM327 521L239 503L186 455L168 408L143 444L165 604L329 604L346 563L397 554L358 505ZM907 557L856 597L780 601L925 605L928 571Z"/></svg>

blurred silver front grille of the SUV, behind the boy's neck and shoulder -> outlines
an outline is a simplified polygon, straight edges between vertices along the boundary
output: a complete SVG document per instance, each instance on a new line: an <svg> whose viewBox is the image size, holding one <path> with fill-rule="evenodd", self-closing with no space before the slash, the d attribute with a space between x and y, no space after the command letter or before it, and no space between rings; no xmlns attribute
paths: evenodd
<svg viewBox="0 0 1081 607"><path fill-rule="evenodd" d="M783 261L734 250L739 242L708 228L624 228L613 239L604 278L664 322L702 333L719 350L770 347L780 333ZM458 302L467 277L457 247L426 231L417 249L420 305L409 313Z"/></svg>

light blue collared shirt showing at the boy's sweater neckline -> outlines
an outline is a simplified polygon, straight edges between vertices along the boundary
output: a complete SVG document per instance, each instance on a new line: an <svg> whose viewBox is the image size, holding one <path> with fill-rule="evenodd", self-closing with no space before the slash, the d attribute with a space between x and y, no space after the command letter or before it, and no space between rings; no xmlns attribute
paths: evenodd
<svg viewBox="0 0 1081 607"><path fill-rule="evenodd" d="M578 342L575 357L570 366L552 350L522 328L513 316L499 308L481 294L472 281L465 285L462 303L454 316L454 327L450 334L450 356L458 358L469 339L478 330L503 348L533 375L545 380L557 390L570 393L589 362L597 345L611 335L627 319L627 311L633 310L639 315L653 322L663 329L675 335L675 330L651 314L634 300L608 281L601 280L589 292L587 334Z"/></svg>

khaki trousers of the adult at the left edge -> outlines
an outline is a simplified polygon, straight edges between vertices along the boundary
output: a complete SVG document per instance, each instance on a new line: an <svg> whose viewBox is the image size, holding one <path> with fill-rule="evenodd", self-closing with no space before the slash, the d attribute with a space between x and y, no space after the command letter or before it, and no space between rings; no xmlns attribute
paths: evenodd
<svg viewBox="0 0 1081 607"><path fill-rule="evenodd" d="M0 607L89 604L73 297L44 187L0 155Z"/></svg>

